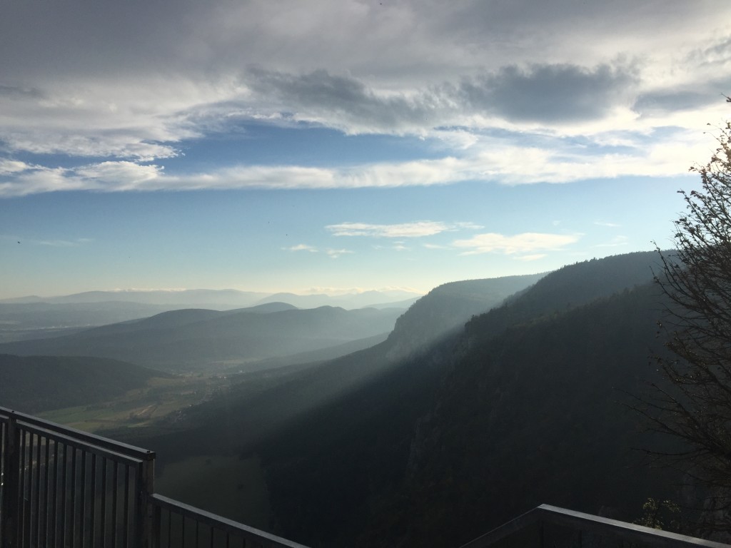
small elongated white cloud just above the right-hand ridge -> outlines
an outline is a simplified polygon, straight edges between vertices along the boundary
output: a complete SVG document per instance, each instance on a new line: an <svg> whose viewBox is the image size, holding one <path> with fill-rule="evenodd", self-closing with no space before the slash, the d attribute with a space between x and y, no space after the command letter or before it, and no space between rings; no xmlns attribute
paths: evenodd
<svg viewBox="0 0 731 548"><path fill-rule="evenodd" d="M469 240L455 240L452 246L463 248L463 255L482 253L533 254L535 251L558 251L572 243L576 243L580 235L545 234L540 232L524 232L514 236L505 236L488 232L478 234Z"/></svg>

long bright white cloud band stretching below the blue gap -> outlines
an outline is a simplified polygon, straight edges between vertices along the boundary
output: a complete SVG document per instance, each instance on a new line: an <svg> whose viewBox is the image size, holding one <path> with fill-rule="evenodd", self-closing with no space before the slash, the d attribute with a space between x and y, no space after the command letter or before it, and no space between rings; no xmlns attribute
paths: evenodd
<svg viewBox="0 0 731 548"><path fill-rule="evenodd" d="M506 134L509 135L509 134ZM523 137L525 137L523 135ZM434 186L461 181L508 185L569 183L626 175L686 175L708 156L701 132L669 130L635 148L586 147L564 137L542 137L542 146L482 137L460 157L374 162L352 167L235 164L203 172L167 173L159 164L102 161L79 167L0 164L0 197L53 191L192 191L201 189L363 189ZM470 228L450 224L448 229Z"/></svg>

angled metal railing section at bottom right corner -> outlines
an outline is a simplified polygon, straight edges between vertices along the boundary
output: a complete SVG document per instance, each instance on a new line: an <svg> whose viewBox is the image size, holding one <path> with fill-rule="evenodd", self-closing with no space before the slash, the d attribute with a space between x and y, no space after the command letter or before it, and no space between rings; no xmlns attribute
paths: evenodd
<svg viewBox="0 0 731 548"><path fill-rule="evenodd" d="M633 523L542 504L461 548L729 548Z"/></svg>

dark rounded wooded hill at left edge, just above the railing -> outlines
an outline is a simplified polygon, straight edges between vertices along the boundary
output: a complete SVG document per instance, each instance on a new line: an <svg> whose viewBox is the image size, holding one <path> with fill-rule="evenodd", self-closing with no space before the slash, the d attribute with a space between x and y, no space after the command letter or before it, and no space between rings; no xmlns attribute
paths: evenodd
<svg viewBox="0 0 731 548"><path fill-rule="evenodd" d="M115 359L0 354L0 405L26 413L103 402L165 373Z"/></svg>

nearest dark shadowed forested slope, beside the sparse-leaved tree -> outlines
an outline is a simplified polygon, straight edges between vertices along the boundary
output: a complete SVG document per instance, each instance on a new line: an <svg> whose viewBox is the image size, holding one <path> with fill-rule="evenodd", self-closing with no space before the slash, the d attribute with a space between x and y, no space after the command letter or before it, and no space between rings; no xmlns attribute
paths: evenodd
<svg viewBox="0 0 731 548"><path fill-rule="evenodd" d="M497 336L469 324L355 545L459 546L540 503L632 520L648 496L677 496L632 450L656 441L626 406L659 381L658 302L647 285Z"/></svg>

